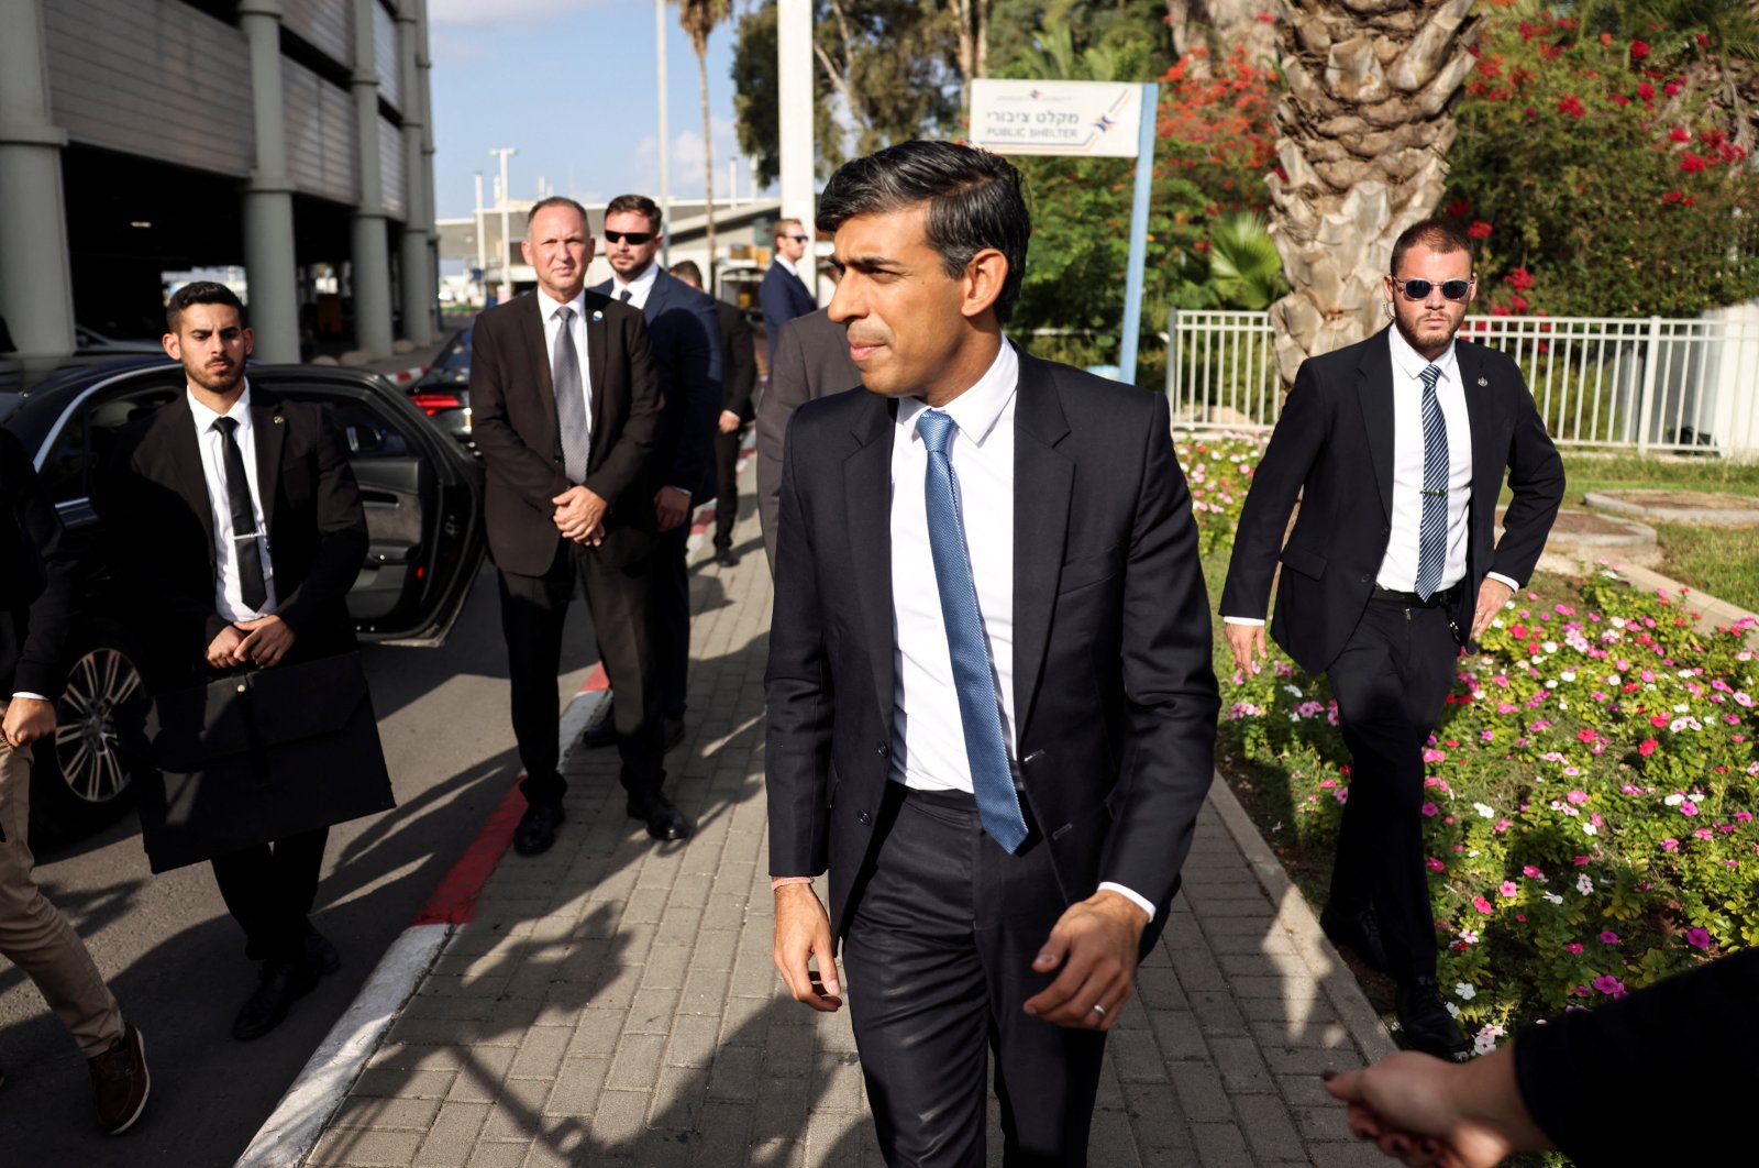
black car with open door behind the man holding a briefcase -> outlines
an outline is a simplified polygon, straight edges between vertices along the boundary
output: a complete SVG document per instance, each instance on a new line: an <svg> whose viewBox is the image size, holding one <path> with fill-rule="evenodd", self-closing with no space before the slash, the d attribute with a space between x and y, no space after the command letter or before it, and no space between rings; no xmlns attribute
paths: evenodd
<svg viewBox="0 0 1759 1168"><path fill-rule="evenodd" d="M348 593L361 639L440 644L484 556L482 468L375 373L252 366L250 382L325 405L348 442L371 540ZM77 558L55 749L39 748L32 770L33 832L72 837L111 821L144 765L116 737L118 711L134 714L148 698L134 639L111 616L118 584L91 493L118 431L183 392L183 366L134 359L63 369L30 392L0 394L0 426L33 454Z"/></svg>

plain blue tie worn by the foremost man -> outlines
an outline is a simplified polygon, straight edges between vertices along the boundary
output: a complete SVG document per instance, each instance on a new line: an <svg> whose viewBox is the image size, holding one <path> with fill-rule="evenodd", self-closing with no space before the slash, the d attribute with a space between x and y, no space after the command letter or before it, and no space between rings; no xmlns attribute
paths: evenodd
<svg viewBox="0 0 1759 1168"><path fill-rule="evenodd" d="M938 410L925 410L916 419L916 433L929 450L925 480L929 551L934 554L934 584L941 593L941 619L946 623L946 647L953 661L959 721L966 730L966 760L971 763L978 816L983 820L983 830L1011 853L1025 843L1025 818L1020 814L1020 797L1013 790L1008 748L1001 739L996 679L983 640L978 589L971 580L966 531L959 519L959 480L946 457L955 429L953 419Z"/></svg>

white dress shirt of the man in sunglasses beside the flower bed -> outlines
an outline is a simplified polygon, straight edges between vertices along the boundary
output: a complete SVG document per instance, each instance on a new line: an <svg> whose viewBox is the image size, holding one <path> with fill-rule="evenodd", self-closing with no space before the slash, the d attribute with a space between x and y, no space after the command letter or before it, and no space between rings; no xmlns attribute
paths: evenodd
<svg viewBox="0 0 1759 1168"><path fill-rule="evenodd" d="M1441 588L1465 579L1465 551L1471 538L1472 503L1472 422L1465 412L1465 385L1453 341L1430 361L1398 332L1388 329L1393 355L1393 521L1386 554L1374 582L1395 593L1416 591L1418 556L1423 547L1423 369L1435 366L1435 399L1448 426L1448 559L1441 570ZM1520 588L1506 575L1493 580ZM1228 624L1263 624L1263 617L1224 616Z"/></svg>

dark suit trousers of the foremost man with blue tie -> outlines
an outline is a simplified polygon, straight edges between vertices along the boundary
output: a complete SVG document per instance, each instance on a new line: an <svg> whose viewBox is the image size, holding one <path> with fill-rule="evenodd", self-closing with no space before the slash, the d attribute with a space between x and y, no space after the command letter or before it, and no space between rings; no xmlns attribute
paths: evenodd
<svg viewBox="0 0 1759 1168"><path fill-rule="evenodd" d="M1050 850L1001 850L962 792L890 783L843 945L855 1047L887 1164L982 1168L989 1052L1003 1163L1087 1163L1105 1034L1031 1018L1062 915Z"/></svg>

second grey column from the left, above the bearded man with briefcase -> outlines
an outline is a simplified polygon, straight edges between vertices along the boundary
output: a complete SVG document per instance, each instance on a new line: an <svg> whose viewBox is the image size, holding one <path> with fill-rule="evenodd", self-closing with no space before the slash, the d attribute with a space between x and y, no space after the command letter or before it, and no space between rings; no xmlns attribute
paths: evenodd
<svg viewBox="0 0 1759 1168"><path fill-rule="evenodd" d="M294 259L294 185L287 178L281 90L281 0L239 0L250 40L250 99L257 114L257 169L245 186L245 271L250 327L260 361L299 361L299 269Z"/></svg>

